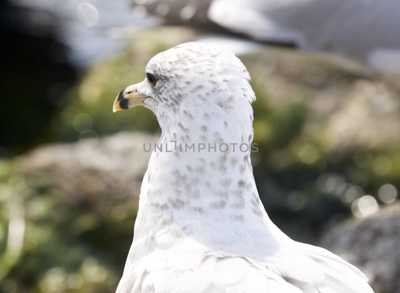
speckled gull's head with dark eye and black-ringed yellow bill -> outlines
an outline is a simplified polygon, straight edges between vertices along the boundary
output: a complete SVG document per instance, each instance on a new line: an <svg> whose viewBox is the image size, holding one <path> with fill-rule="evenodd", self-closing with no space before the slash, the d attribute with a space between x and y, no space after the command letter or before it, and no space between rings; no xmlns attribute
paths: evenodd
<svg viewBox="0 0 400 293"><path fill-rule="evenodd" d="M142 105L160 124L183 113L194 117L202 109L237 115L255 100L250 75L235 54L209 44L189 42L161 52L147 64L142 82L124 88L113 111Z"/></svg>

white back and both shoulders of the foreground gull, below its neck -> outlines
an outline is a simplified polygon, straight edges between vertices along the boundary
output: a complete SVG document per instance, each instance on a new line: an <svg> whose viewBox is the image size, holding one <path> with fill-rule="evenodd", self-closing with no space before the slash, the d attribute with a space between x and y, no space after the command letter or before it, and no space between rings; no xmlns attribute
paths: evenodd
<svg viewBox="0 0 400 293"><path fill-rule="evenodd" d="M262 259L205 247L155 250L131 268L117 293L373 293L356 267L295 241Z"/></svg>

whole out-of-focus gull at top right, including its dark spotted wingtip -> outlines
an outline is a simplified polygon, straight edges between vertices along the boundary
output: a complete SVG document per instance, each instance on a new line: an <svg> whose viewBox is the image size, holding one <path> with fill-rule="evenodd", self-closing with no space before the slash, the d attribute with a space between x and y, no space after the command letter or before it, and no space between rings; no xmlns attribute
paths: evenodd
<svg viewBox="0 0 400 293"><path fill-rule="evenodd" d="M192 26L224 36L206 42L295 47L372 72L400 72L400 2L397 0L135 0L135 8L164 24ZM231 36L228 37L227 36ZM236 38L232 38L236 37ZM237 38L239 37L239 39ZM243 42L244 39L256 42ZM197 39L198 40L198 39ZM202 39L204 42L204 38ZM319 54L328 53L328 54ZM354 63L354 61L356 63Z"/></svg>

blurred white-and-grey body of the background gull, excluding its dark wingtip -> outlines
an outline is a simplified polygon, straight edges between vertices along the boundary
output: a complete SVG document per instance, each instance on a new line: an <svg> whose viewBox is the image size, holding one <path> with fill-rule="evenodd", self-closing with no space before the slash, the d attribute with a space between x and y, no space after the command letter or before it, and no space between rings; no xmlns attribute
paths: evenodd
<svg viewBox="0 0 400 293"><path fill-rule="evenodd" d="M255 40L335 53L399 72L397 0L213 0L208 18Z"/></svg>

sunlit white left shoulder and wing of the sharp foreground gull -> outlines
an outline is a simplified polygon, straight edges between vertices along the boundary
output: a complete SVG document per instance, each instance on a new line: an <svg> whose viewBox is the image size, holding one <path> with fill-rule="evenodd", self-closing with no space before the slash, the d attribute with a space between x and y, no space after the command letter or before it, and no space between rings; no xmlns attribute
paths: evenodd
<svg viewBox="0 0 400 293"><path fill-rule="evenodd" d="M154 252L134 270L117 293L303 292L260 263L223 251Z"/></svg>

